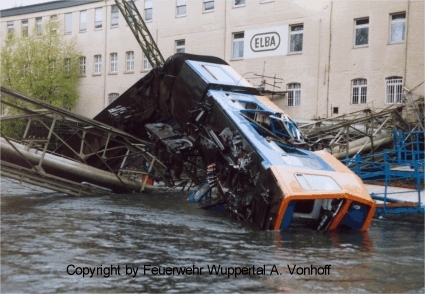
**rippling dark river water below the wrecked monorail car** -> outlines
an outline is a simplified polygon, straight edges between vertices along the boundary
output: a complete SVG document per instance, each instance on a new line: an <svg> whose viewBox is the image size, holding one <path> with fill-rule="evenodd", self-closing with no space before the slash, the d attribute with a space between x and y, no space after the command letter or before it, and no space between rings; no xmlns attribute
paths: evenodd
<svg viewBox="0 0 425 294"><path fill-rule="evenodd" d="M183 193L77 198L1 184L2 293L425 290L421 224L259 231Z"/></svg>

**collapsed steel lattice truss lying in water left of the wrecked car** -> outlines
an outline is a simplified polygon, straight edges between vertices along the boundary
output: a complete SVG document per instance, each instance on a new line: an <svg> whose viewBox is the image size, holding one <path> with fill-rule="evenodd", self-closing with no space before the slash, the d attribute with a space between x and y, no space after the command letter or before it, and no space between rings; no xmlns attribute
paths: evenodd
<svg viewBox="0 0 425 294"><path fill-rule="evenodd" d="M205 177L198 158L176 177L149 142L4 87L1 96L2 176L71 195L185 189Z"/></svg>

